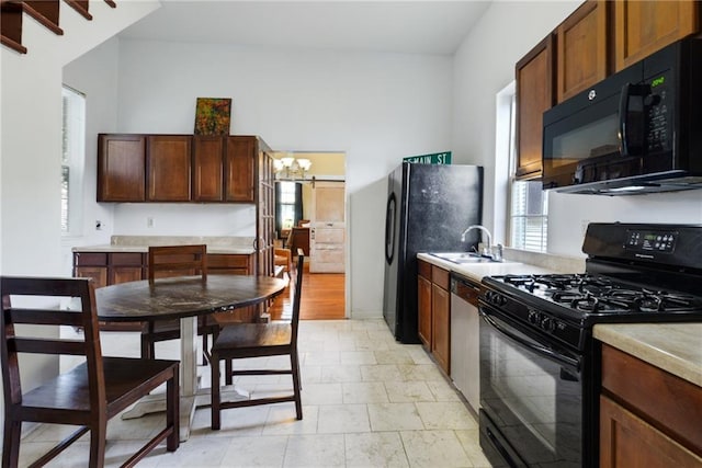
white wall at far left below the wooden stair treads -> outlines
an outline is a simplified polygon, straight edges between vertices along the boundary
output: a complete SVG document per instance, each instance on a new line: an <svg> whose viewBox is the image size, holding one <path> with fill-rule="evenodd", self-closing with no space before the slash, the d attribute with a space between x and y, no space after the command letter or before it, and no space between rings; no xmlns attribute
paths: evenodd
<svg viewBox="0 0 702 468"><path fill-rule="evenodd" d="M112 10L104 1L90 2L89 22L60 2L64 36L25 16L23 44L29 53L0 47L1 274L70 275L60 246L61 67L156 5L144 1ZM106 15L110 20L101 21ZM29 387L58 372L58 359L27 357L23 364L23 385Z"/></svg>

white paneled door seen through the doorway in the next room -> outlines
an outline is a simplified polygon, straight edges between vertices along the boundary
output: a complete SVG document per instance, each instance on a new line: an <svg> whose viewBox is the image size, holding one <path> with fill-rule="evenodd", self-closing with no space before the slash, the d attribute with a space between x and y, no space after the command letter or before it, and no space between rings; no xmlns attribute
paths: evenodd
<svg viewBox="0 0 702 468"><path fill-rule="evenodd" d="M309 272L343 273L346 262L343 182L316 182L312 190Z"/></svg>

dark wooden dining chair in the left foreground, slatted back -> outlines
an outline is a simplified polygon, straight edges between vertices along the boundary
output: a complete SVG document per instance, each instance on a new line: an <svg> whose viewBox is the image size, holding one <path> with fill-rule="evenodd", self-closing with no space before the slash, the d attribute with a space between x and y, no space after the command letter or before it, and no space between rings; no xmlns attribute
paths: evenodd
<svg viewBox="0 0 702 468"><path fill-rule="evenodd" d="M105 357L100 345L95 294L89 278L33 278L0 276L2 385L4 436L2 466L16 467L23 422L68 424L78 429L32 466L43 466L90 431L86 466L103 467L107 420L166 384L166 427L138 449L123 466L134 466L162 441L173 452L179 446L178 361ZM73 298L60 310L60 298ZM79 303L80 308L78 309ZM46 338L37 327L59 326L82 330L82 340ZM47 327L41 327L46 329ZM82 356L72 369L48 377L29 391L22 386L23 353ZM26 366L26 364L25 364ZM25 369L26 370L26 369Z"/></svg>

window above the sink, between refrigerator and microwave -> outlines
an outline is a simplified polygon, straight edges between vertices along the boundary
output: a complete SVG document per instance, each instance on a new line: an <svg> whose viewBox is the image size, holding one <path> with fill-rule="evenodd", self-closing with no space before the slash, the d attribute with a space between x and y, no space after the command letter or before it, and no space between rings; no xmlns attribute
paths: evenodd
<svg viewBox="0 0 702 468"><path fill-rule="evenodd" d="M541 181L518 181L517 169L517 99L509 100L509 232L513 249L545 252L547 247L548 196Z"/></svg>

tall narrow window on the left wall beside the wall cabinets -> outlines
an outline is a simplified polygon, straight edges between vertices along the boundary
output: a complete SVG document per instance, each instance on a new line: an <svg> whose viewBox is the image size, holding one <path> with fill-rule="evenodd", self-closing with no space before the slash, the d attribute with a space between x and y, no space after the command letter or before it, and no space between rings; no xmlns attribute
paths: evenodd
<svg viewBox="0 0 702 468"><path fill-rule="evenodd" d="M86 159L86 96L63 89L61 233L80 235L82 172Z"/></svg>

